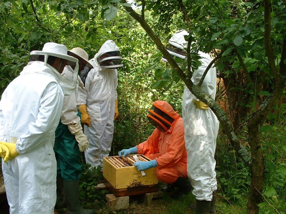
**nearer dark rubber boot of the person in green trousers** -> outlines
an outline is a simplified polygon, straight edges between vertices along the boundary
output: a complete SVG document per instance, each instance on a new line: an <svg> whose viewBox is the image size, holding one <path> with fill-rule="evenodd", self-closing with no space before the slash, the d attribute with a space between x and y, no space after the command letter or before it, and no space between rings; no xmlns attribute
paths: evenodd
<svg viewBox="0 0 286 214"><path fill-rule="evenodd" d="M80 206L78 180L63 181L63 190L67 203L66 214L94 214L93 209L84 209Z"/></svg>

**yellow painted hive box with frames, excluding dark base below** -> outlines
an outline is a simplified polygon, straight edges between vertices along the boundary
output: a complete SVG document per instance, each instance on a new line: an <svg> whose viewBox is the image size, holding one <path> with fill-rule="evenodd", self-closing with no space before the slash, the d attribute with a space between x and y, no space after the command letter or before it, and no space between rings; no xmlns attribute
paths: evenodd
<svg viewBox="0 0 286 214"><path fill-rule="evenodd" d="M149 160L143 155L137 156L140 158L139 160L143 160L142 158L146 159L146 161ZM126 157L128 157L129 160L132 158L132 156ZM103 177L115 189L158 184L156 176L157 167L144 170L146 176L143 177L141 171L138 171L135 166L124 166L124 164L120 165L119 162L115 165L114 163L116 163L116 160L114 158L118 159L119 156L106 157L103 159Z"/></svg>

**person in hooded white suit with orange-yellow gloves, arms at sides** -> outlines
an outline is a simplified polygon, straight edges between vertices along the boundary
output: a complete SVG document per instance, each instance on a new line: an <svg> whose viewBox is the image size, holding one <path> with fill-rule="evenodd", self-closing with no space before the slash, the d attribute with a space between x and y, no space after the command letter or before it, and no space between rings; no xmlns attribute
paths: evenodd
<svg viewBox="0 0 286 214"><path fill-rule="evenodd" d="M103 157L110 152L114 120L118 115L117 70L123 66L120 50L112 40L106 41L89 62L94 66L85 80L86 105L80 106L84 134L89 148L85 151L86 162L92 167L102 166ZM90 124L83 118L90 117Z"/></svg>

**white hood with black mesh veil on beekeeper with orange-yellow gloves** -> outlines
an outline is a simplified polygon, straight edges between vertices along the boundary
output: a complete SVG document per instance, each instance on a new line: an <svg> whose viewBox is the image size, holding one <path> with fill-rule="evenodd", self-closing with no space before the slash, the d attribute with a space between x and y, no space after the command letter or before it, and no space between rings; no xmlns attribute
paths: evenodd
<svg viewBox="0 0 286 214"><path fill-rule="evenodd" d="M120 50L112 40L107 40L95 55L96 61L100 67L103 68L120 68L123 66L121 63L122 57Z"/></svg>

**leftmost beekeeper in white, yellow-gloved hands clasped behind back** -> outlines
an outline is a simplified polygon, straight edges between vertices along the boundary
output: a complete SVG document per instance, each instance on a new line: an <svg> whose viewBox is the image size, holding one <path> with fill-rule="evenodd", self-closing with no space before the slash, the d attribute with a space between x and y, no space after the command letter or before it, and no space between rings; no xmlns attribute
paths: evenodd
<svg viewBox="0 0 286 214"><path fill-rule="evenodd" d="M75 65L68 80L61 75ZM78 59L67 47L46 43L0 101L0 154L10 214L54 213L57 164L53 152L63 96L76 86Z"/></svg>

